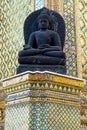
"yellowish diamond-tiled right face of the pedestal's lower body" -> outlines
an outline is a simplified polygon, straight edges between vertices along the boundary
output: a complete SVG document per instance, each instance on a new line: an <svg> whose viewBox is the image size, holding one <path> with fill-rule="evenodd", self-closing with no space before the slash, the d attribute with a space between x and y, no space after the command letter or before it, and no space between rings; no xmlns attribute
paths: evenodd
<svg viewBox="0 0 87 130"><path fill-rule="evenodd" d="M79 130L80 110L59 104L47 104L47 130ZM55 106L55 107L54 107ZM55 115L55 116L54 116Z"/></svg>

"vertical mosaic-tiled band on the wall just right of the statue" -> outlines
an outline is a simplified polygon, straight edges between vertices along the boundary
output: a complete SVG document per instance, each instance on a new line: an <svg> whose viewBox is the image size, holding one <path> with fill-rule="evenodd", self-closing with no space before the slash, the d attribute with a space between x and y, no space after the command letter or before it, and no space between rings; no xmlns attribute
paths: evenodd
<svg viewBox="0 0 87 130"><path fill-rule="evenodd" d="M67 74L77 76L75 0L63 1L63 17L66 23L65 53Z"/></svg>

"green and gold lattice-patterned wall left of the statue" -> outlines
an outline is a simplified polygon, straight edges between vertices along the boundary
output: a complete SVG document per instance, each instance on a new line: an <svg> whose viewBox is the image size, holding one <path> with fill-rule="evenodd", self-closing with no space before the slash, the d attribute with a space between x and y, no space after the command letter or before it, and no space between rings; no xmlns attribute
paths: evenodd
<svg viewBox="0 0 87 130"><path fill-rule="evenodd" d="M33 0L1 0L0 79L16 74L18 51L24 45L23 24Z"/></svg>

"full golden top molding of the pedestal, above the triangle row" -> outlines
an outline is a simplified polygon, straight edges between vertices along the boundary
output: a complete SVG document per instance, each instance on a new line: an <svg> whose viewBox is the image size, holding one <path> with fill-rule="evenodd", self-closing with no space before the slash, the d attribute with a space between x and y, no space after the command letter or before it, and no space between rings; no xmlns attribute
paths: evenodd
<svg viewBox="0 0 87 130"><path fill-rule="evenodd" d="M84 86L84 81L79 78L69 77L61 74L54 74L49 72L36 72L36 73L24 73L22 75L14 76L8 78L6 80L2 80L2 84L4 88L21 85L27 82L42 82L42 83L51 83L51 84L59 84L64 86L77 86L78 88L82 88Z"/></svg>

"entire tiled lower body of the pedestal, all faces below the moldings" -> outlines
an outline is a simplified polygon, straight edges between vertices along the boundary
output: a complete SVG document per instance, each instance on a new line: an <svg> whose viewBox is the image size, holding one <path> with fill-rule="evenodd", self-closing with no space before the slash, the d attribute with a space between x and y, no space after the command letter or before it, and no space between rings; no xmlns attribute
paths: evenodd
<svg viewBox="0 0 87 130"><path fill-rule="evenodd" d="M79 130L80 109L54 103L24 103L6 108L5 130Z"/></svg>

